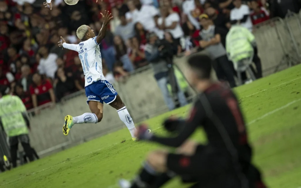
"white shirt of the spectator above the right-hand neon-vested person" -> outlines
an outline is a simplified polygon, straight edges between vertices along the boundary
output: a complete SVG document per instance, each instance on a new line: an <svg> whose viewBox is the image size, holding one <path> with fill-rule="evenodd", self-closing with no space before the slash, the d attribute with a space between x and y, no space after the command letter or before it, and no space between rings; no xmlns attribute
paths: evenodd
<svg viewBox="0 0 301 188"><path fill-rule="evenodd" d="M246 27L252 32L253 24L250 17L250 9L247 5L241 5L240 8L234 8L230 13L230 20L241 20L244 15L249 15L245 23L240 23L241 26Z"/></svg>

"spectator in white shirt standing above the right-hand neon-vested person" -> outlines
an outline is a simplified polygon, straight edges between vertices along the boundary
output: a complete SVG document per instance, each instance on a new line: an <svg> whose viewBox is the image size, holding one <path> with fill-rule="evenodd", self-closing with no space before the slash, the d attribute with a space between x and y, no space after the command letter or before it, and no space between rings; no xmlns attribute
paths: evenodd
<svg viewBox="0 0 301 188"><path fill-rule="evenodd" d="M233 4L235 8L230 13L231 24L240 24L252 32L253 24L248 5L243 5L241 0L233 0Z"/></svg>

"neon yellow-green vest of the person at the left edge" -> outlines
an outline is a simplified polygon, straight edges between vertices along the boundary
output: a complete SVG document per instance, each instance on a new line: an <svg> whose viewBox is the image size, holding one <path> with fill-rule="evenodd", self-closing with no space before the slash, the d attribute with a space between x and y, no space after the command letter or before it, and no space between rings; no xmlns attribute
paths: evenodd
<svg viewBox="0 0 301 188"><path fill-rule="evenodd" d="M22 112L26 112L26 107L19 97L5 95L0 99L0 118L9 137L28 134Z"/></svg>

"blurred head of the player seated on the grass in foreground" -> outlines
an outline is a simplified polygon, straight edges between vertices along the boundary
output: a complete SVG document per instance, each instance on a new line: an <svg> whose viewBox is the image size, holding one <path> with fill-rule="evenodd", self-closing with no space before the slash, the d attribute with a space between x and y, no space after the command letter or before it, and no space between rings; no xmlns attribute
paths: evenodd
<svg viewBox="0 0 301 188"><path fill-rule="evenodd" d="M197 88L200 84L210 81L212 59L208 55L194 55L188 59L186 78L190 85Z"/></svg>

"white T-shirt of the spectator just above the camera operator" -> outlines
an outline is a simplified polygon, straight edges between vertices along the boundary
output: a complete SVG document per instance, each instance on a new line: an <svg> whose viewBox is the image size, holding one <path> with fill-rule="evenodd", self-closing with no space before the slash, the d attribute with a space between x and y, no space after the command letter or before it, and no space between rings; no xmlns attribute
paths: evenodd
<svg viewBox="0 0 301 188"><path fill-rule="evenodd" d="M163 22L162 17L158 18L158 24L161 25L162 22ZM178 13L169 14L165 18L165 26L166 27L171 26L173 22L177 22L177 26L175 27L175 29L166 29L166 31L170 32L174 39L178 39L178 38L184 36L184 32L182 30L182 27L180 26L180 16L178 15Z"/></svg>

